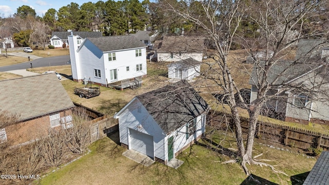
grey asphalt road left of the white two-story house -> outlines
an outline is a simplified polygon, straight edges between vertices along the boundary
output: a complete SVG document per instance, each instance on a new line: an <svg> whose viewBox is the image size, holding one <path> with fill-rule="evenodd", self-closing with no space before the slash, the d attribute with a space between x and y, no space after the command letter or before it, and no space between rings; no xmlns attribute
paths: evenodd
<svg viewBox="0 0 329 185"><path fill-rule="evenodd" d="M17 69L27 69L32 67L46 67L46 66L60 66L70 65L70 55L63 55L58 57L39 58L33 61L27 61L19 64L0 67L0 71L10 71Z"/></svg>

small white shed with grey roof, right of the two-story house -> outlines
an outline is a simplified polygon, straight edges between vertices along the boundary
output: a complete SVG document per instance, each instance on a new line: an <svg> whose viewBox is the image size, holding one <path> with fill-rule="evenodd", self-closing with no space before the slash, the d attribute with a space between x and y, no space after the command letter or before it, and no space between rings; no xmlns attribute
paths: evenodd
<svg viewBox="0 0 329 185"><path fill-rule="evenodd" d="M168 78L192 80L200 75L201 63L189 58L168 65Z"/></svg>

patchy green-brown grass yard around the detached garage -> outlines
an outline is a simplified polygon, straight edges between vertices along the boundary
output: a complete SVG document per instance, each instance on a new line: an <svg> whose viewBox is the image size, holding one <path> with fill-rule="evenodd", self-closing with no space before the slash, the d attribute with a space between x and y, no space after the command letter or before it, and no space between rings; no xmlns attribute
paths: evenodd
<svg viewBox="0 0 329 185"><path fill-rule="evenodd" d="M220 142L224 137L225 141ZM230 135L221 133L213 135L212 139L227 149L235 146L235 140ZM34 184L258 184L246 180L247 176L239 163L222 164L230 158L206 140L199 140L199 144L192 145L178 155L184 164L177 170L158 162L144 167L122 156L126 149L118 142L118 132L98 140L90 146L89 154L56 172L51 173L51 169L46 177L34 181ZM255 143L254 155L261 153L263 155L258 159L271 160L268 163L288 175L274 173L268 167L251 165L251 173L261 182L298 182L299 179L291 179L294 178L291 176L309 172L316 162L316 159Z"/></svg>

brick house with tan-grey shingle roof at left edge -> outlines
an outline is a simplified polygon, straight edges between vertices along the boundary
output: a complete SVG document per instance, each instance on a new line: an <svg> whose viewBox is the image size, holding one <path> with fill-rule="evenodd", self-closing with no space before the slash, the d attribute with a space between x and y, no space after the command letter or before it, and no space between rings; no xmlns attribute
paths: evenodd
<svg viewBox="0 0 329 185"><path fill-rule="evenodd" d="M0 81L0 110L18 120L0 125L0 142L26 144L48 134L50 128L71 126L75 105L54 73Z"/></svg>

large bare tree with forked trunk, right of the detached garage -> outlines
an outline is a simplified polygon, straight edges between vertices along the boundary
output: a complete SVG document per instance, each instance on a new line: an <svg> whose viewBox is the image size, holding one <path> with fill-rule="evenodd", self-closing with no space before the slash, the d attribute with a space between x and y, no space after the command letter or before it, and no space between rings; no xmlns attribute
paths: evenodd
<svg viewBox="0 0 329 185"><path fill-rule="evenodd" d="M296 68L303 64L306 69L305 58L291 62L286 68L273 73L280 62L296 49L297 43L305 38L321 38L324 30L305 31L304 24L310 18L317 16L321 7L319 1L159 1L162 9L193 22L201 33L200 36L207 38L213 43L214 53L212 61L207 62L203 76L207 79L206 85L212 87L209 93L221 93L225 97L225 103L230 107L231 121L235 126L235 138L237 141L238 157L232 161L241 161L241 165L250 174L246 164L260 164L272 167L269 164L259 162L252 157L252 147L255 137L255 129L258 117L263 106L269 98L281 95L289 89L296 89L297 84L289 84L291 76L284 76L290 68ZM194 13L193 6L200 7L198 13ZM321 9L321 8L320 8ZM323 13L323 12L321 12ZM253 39L239 35L239 29L243 20L251 18L253 24L258 25L257 36ZM257 86L257 95L250 104L241 95L241 86L236 84L232 71L234 63L228 61L230 49L233 44L239 43L244 46L252 57L255 66L253 83ZM260 57L257 53L263 51ZM238 61L239 62L239 61ZM236 63L236 61L235 61ZM240 62L240 64L242 64ZM281 66L280 66L281 67ZM310 69L310 68L307 68ZM315 71L315 68L314 68ZM253 74L250 71L250 77ZM319 72L318 72L319 73ZM294 74L297 75L297 74ZM269 80L271 78L271 80ZM282 80L281 78L285 78ZM246 79L247 80L247 79ZM285 86L286 88L281 88ZM277 90L280 87L280 90ZM301 86L299 86L301 88ZM210 88L209 88L210 89ZM315 86L304 88L309 92ZM268 96L271 90L277 90L275 94ZM214 92L215 91L215 92ZM237 95L237 98L236 98ZM248 109L250 121L247 139L242 137L241 120L238 107Z"/></svg>

